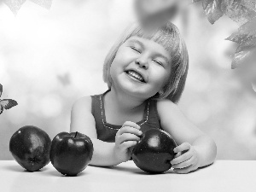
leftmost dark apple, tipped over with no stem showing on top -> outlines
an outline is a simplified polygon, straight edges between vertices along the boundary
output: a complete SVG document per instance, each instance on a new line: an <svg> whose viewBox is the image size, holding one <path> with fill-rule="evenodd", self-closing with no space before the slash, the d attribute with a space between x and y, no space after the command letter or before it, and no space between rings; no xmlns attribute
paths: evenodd
<svg viewBox="0 0 256 192"><path fill-rule="evenodd" d="M36 126L21 127L9 141L9 151L28 172L35 172L49 163L49 135Z"/></svg>

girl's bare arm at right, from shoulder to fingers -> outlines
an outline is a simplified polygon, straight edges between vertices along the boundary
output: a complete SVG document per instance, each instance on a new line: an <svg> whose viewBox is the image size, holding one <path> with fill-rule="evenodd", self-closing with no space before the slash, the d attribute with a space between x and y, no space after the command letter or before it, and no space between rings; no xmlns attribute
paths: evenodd
<svg viewBox="0 0 256 192"><path fill-rule="evenodd" d="M174 137L178 145L174 149L177 156L171 162L176 172L187 173L212 164L217 147L211 137L189 122L173 102L159 101L157 110L161 126Z"/></svg>

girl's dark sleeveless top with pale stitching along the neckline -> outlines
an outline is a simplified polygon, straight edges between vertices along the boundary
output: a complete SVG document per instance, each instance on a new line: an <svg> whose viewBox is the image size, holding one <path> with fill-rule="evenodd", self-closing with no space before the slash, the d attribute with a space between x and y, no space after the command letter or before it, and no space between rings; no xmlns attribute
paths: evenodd
<svg viewBox="0 0 256 192"><path fill-rule="evenodd" d="M115 135L122 125L112 125L106 121L104 96L108 91L110 90L107 90L100 95L91 96L91 113L96 122L97 138L103 142L114 143ZM140 125L141 131L143 132L152 128L161 129L156 101L151 99L146 101L143 119L137 122L137 125Z"/></svg>

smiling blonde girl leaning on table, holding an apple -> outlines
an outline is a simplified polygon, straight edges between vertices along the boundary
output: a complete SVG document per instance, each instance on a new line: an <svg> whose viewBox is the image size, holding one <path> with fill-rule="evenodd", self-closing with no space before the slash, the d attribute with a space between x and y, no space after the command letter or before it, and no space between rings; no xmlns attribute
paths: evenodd
<svg viewBox="0 0 256 192"><path fill-rule="evenodd" d="M108 90L74 103L71 131L91 138L94 166L114 166L131 159L144 131L163 129L174 137L177 173L212 164L216 145L179 111L189 56L177 27L167 22L146 32L132 25L113 45L103 67Z"/></svg>

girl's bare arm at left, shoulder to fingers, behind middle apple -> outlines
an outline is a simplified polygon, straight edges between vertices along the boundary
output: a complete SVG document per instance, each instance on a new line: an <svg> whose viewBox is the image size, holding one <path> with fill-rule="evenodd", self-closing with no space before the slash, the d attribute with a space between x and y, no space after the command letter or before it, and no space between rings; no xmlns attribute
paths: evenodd
<svg viewBox="0 0 256 192"><path fill-rule="evenodd" d="M85 96L73 104L70 131L79 131L90 137L94 152L90 165L115 166L129 160L131 147L137 144L142 133L140 127L132 122L125 122L117 132L115 143L97 139L96 123L91 113L91 97Z"/></svg>

